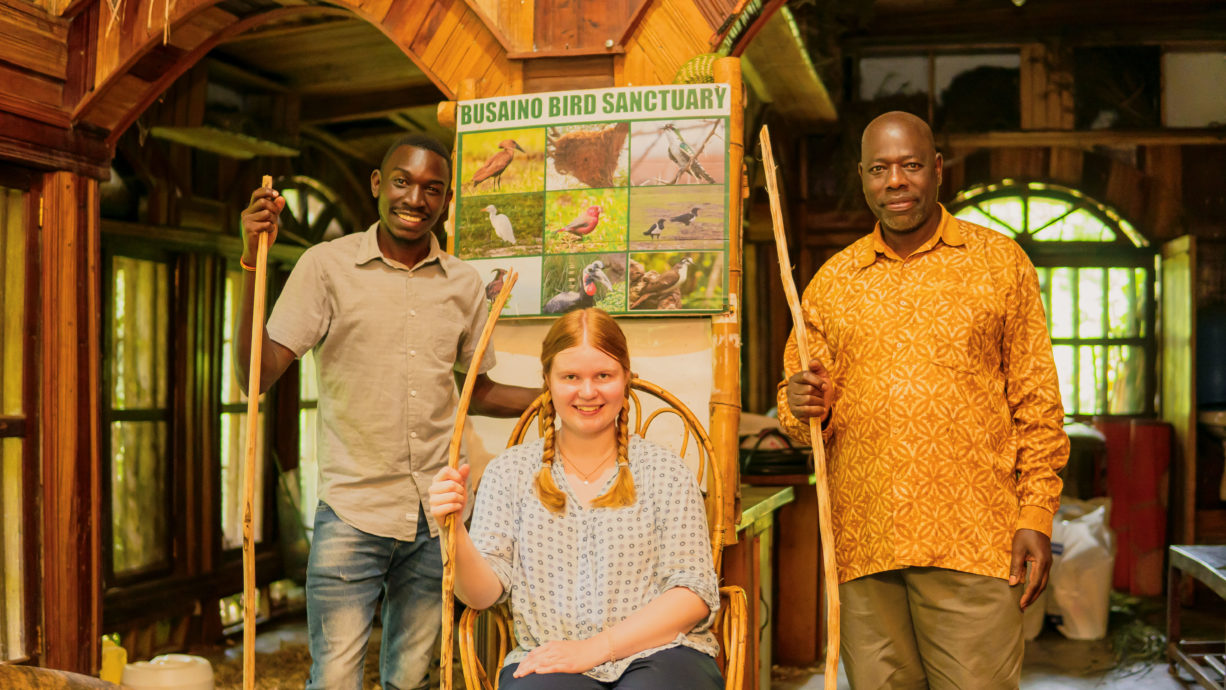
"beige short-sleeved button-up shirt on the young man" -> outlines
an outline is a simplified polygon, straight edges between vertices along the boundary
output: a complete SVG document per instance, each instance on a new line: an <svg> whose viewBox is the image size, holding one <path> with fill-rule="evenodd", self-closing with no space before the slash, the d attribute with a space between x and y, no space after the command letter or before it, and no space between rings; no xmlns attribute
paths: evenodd
<svg viewBox="0 0 1226 690"><path fill-rule="evenodd" d="M417 506L446 462L452 371L472 364L487 306L477 271L434 237L408 267L383 256L378 232L308 249L267 331L295 357L315 351L320 499L363 532L413 540ZM478 371L493 366L490 349Z"/></svg>

